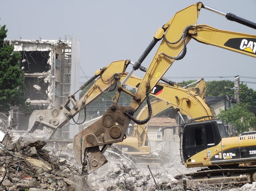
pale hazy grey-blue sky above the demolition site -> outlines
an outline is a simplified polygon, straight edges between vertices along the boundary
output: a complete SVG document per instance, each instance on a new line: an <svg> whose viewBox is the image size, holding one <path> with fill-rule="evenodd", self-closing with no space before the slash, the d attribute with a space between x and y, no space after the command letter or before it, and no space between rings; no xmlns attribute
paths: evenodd
<svg viewBox="0 0 256 191"><path fill-rule="evenodd" d="M176 12L195 3L191 0L8 0L2 2L0 26L6 25L8 29L6 39L64 40L65 35L80 39L80 82L85 82L94 71L113 61L137 61L156 30ZM256 23L255 0L204 0L202 3ZM256 30L206 9L200 11L198 24L256 35ZM159 45L142 66L149 66ZM255 58L192 39L184 59L175 61L164 77L178 82L200 78L234 81L239 75L241 83L256 90L255 71ZM144 73L135 71L134 75L142 77Z"/></svg>

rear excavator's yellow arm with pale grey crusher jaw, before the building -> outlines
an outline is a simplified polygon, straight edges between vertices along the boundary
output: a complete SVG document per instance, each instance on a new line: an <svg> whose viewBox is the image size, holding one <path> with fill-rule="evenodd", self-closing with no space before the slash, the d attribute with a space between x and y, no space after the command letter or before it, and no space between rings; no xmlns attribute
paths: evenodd
<svg viewBox="0 0 256 191"><path fill-rule="evenodd" d="M103 69L95 71L94 77L84 83L78 91L84 89L98 77L96 83L78 101L75 99L74 93L73 95L68 95L64 104L59 107L48 110L34 110L29 118L27 133L33 133L39 124L43 124L45 138L52 138L57 128L61 128L102 93L109 91L112 85L116 85L120 80L116 73L125 72L129 63L129 60L116 61Z"/></svg>

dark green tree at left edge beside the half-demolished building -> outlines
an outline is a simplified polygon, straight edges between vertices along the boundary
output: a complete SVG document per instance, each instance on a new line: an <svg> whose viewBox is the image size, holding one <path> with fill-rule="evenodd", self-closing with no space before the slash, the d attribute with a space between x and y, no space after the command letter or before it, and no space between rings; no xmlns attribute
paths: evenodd
<svg viewBox="0 0 256 191"><path fill-rule="evenodd" d="M11 106L24 105L24 77L19 69L19 52L13 52L13 45L5 45L6 26L0 26L0 112L8 114Z"/></svg>

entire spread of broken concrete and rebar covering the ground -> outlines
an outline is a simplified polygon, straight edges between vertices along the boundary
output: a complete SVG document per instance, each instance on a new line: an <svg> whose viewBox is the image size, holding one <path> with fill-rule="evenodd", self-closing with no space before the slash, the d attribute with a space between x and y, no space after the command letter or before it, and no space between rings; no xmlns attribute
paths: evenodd
<svg viewBox="0 0 256 191"><path fill-rule="evenodd" d="M104 154L108 163L84 176L70 145L63 150L56 147L56 143L48 145L44 140L23 142L22 137L13 141L9 132L4 134L0 144L1 191L184 191L183 185L174 179L175 173L184 173L186 169L178 163L178 152L176 156L164 154L169 161L163 168L158 165L141 167L115 154L116 147L113 146L110 148L112 152ZM154 155L161 152L154 151ZM256 190L256 183L223 188L202 184L195 190L220 189L252 191Z"/></svg>

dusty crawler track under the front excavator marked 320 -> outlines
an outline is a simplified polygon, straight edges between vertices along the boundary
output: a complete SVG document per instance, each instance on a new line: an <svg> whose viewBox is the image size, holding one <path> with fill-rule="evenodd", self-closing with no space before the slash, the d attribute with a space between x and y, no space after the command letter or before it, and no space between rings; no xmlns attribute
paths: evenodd
<svg viewBox="0 0 256 191"><path fill-rule="evenodd" d="M180 174L174 177L184 185L184 190L196 189L199 184L207 185L244 185L256 181L256 167L206 169Z"/></svg>

